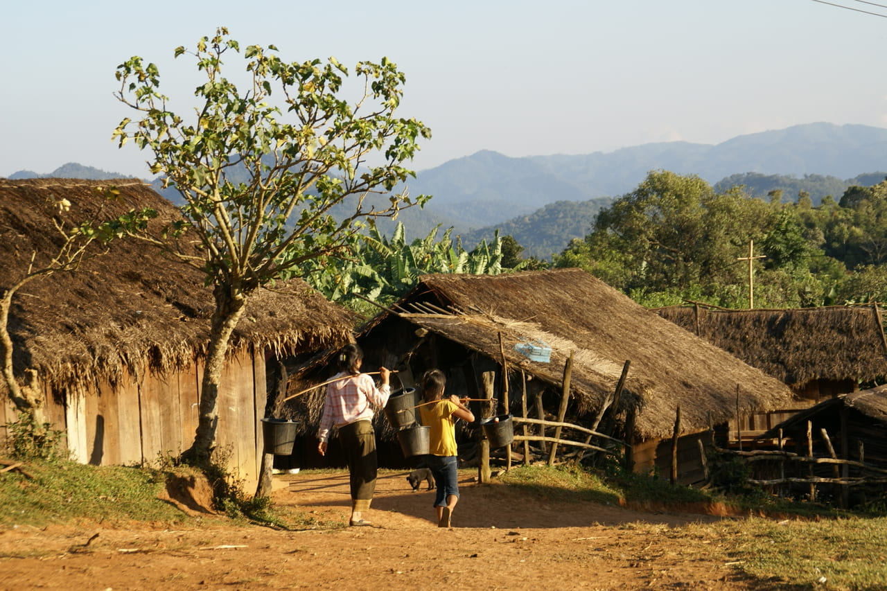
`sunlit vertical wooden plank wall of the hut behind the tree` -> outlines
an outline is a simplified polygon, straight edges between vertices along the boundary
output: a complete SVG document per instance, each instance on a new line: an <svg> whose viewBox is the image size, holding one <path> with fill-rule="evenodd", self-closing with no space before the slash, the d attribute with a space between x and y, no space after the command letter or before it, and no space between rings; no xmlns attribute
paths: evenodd
<svg viewBox="0 0 887 591"><path fill-rule="evenodd" d="M173 375L148 374L140 381L126 376L117 388L103 383L95 390L71 388L67 399L47 396L46 414L65 432L75 461L94 465L153 463L161 455L178 455L194 440L200 415L201 364ZM255 480L262 461L261 419L266 400L263 355L242 351L232 358L219 389L216 441L230 449L229 469ZM17 420L8 398L0 420ZM0 443L6 437L0 429Z"/></svg>

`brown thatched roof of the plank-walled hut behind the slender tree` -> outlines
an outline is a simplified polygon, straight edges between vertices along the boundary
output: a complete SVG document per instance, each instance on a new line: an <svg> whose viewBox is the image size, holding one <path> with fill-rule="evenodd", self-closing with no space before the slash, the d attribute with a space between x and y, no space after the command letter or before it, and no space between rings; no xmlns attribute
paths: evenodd
<svg viewBox="0 0 887 591"><path fill-rule="evenodd" d="M119 201L106 201L95 191L111 185L120 190ZM55 210L47 205L51 195L71 202L69 221L94 216L102 203L103 218L150 207L159 213L154 228L181 219L169 201L133 179L0 179L0 288L26 272L33 253L40 266L58 249ZM103 247L90 248L95 253ZM35 368L57 387L97 379L113 383L124 368L139 375L189 366L206 351L212 310L203 272L161 256L143 241L114 240L106 254L76 272L56 272L20 289L10 319L13 365L19 375ZM318 350L349 340L351 330L349 312L302 280L291 280L255 294L232 336L232 351L247 345Z"/></svg>

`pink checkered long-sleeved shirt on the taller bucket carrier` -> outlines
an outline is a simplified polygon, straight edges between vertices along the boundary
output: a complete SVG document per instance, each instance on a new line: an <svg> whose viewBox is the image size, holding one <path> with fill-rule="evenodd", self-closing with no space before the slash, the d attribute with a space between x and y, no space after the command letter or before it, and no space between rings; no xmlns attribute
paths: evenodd
<svg viewBox="0 0 887 591"><path fill-rule="evenodd" d="M348 374L335 374L333 379ZM324 414L320 417L318 439L326 441L333 425L341 427L355 421L373 419L370 403L380 408L388 404L391 388L388 384L376 388L373 378L367 374L352 375L347 379L327 384Z"/></svg>

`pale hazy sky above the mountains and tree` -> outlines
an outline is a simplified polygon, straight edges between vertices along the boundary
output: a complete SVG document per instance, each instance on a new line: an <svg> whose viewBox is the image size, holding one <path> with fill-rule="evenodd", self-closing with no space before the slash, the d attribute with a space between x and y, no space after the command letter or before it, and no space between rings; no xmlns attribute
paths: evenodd
<svg viewBox="0 0 887 591"><path fill-rule="evenodd" d="M887 15L887 0L834 0ZM813 0L4 2L0 177L67 162L153 177L118 148L115 67L133 55L190 95L216 27L287 61L386 56L399 114L433 138L412 168L495 150L590 154L648 142L717 144L810 122L887 127L887 18ZM238 63L238 67L240 64Z"/></svg>

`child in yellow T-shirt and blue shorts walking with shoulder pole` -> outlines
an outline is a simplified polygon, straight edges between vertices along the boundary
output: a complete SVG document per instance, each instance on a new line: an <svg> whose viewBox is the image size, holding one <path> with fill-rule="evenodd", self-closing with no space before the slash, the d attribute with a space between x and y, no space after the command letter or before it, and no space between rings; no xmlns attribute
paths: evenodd
<svg viewBox="0 0 887 591"><path fill-rule="evenodd" d="M459 397L443 398L446 376L439 369L430 369L422 375L422 398L437 402L420 406L422 424L431 428L428 468L435 475L437 494L435 509L437 527L450 527L452 511L459 502L459 450L456 446L456 420L474 422L475 415Z"/></svg>

